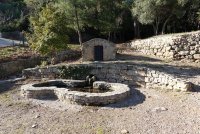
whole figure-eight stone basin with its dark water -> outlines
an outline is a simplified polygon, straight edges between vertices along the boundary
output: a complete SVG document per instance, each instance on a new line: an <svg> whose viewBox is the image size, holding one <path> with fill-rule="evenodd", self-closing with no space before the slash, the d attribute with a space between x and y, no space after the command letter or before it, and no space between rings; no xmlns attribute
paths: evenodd
<svg viewBox="0 0 200 134"><path fill-rule="evenodd" d="M21 95L33 99L59 99L80 105L106 105L127 98L130 88L125 84L96 81L87 90L83 80L50 80L21 87ZM91 90L93 90L91 92Z"/></svg>

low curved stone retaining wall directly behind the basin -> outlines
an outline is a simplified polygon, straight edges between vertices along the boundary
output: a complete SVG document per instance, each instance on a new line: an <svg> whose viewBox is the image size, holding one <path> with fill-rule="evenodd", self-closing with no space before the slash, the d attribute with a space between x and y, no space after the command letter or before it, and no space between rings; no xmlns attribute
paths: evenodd
<svg viewBox="0 0 200 134"><path fill-rule="evenodd" d="M180 91L192 90L192 83L177 78L171 74L138 65L127 65L118 63L92 63L74 64L66 66L89 66L91 73L99 80L113 83L124 83L131 86L144 86L147 88L161 88ZM33 68L23 70L23 76L30 77L58 77L60 66L49 66L45 68Z"/></svg>

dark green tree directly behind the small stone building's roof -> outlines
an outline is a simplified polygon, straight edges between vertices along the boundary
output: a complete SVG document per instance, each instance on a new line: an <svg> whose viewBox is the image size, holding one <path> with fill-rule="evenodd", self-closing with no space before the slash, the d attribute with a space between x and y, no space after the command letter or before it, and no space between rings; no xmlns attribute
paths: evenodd
<svg viewBox="0 0 200 134"><path fill-rule="evenodd" d="M116 38L116 32L121 28L123 19L123 0L91 0L87 2L85 21L102 34L108 35L108 40Z"/></svg>

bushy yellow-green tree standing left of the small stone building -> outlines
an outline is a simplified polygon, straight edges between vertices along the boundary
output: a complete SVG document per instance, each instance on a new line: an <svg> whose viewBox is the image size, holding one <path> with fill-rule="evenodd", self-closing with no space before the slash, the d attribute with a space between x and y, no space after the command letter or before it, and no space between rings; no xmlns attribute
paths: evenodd
<svg viewBox="0 0 200 134"><path fill-rule="evenodd" d="M29 45L43 55L54 57L56 52L67 48L67 22L65 14L54 6L43 7L38 16L30 17L32 33L27 34Z"/></svg>

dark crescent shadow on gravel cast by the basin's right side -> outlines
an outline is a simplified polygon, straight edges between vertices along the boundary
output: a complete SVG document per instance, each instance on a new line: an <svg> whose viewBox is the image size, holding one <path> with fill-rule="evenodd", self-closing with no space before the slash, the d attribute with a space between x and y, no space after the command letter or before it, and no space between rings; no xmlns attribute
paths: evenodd
<svg viewBox="0 0 200 134"><path fill-rule="evenodd" d="M109 104L104 107L109 107L109 108L123 108L123 107L131 107L131 106L136 106L138 104L141 104L145 101L146 97L143 93L141 93L139 90L135 88L131 88L131 95L118 103L114 104Z"/></svg>

